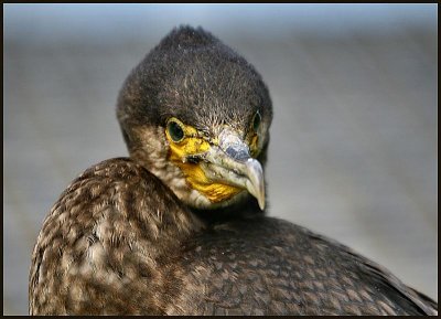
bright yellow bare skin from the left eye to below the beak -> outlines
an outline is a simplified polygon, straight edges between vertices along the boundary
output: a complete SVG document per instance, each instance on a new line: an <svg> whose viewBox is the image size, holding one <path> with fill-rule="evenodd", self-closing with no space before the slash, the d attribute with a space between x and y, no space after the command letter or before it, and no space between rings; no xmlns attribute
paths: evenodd
<svg viewBox="0 0 441 319"><path fill-rule="evenodd" d="M185 137L174 142L165 129L165 136L170 142L170 160L179 166L185 176L189 185L204 194L211 202L217 203L232 198L243 191L239 188L213 182L209 180L200 163L184 162L183 159L191 155L197 155L207 151L211 146L208 141L200 137L197 130L191 126L182 124Z"/></svg>

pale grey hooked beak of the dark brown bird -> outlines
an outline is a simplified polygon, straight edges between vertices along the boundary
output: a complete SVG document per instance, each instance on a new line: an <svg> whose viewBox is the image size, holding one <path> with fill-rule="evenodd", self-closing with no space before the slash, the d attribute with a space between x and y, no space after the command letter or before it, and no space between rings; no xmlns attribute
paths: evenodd
<svg viewBox="0 0 441 319"><path fill-rule="evenodd" d="M200 157L205 176L213 182L222 182L248 190L261 210L265 209L263 169L249 155L249 147L234 131L224 129L218 136L218 145Z"/></svg>

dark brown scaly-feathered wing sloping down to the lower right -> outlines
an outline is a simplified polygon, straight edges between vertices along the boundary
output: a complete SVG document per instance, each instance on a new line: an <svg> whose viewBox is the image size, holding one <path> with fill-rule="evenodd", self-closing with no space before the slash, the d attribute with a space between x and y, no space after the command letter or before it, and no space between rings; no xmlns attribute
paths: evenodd
<svg viewBox="0 0 441 319"><path fill-rule="evenodd" d="M213 227L187 243L186 287L169 313L437 313L388 270L337 242L276 219Z"/></svg>

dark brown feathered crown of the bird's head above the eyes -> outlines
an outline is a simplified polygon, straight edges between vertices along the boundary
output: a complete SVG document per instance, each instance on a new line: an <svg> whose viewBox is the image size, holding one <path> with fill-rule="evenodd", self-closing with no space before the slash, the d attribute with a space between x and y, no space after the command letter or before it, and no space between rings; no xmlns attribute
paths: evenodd
<svg viewBox="0 0 441 319"><path fill-rule="evenodd" d="M117 106L128 136L137 126L164 126L172 116L207 132L223 123L243 129L257 110L269 127L271 99L254 66L191 26L174 29L133 68Z"/></svg>

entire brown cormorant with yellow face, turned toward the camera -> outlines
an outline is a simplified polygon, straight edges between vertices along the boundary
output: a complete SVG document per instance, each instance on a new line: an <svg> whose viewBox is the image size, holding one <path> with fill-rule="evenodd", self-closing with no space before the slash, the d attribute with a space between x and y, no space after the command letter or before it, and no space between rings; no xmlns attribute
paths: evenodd
<svg viewBox="0 0 441 319"><path fill-rule="evenodd" d="M267 216L269 89L208 31L170 31L116 113L129 157L85 170L49 212L30 315L438 313L385 267Z"/></svg>

